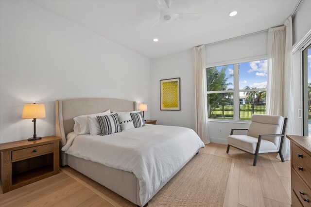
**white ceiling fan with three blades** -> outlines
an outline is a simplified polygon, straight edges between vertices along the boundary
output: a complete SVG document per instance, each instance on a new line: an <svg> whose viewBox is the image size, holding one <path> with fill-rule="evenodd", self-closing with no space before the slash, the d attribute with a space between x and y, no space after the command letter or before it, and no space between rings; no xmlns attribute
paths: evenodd
<svg viewBox="0 0 311 207"><path fill-rule="evenodd" d="M202 14L171 13L169 10L171 4L172 0L157 0L157 8L160 10L160 18L153 23L149 30L153 30L167 21L191 21L197 20L203 16Z"/></svg>

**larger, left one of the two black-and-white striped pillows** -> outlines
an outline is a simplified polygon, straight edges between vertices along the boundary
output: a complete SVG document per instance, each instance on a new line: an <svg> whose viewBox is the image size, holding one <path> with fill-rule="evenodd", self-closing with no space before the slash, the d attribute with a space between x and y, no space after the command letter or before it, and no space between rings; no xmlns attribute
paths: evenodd
<svg viewBox="0 0 311 207"><path fill-rule="evenodd" d="M99 125L101 126L102 136L121 132L118 114L110 114L104 116L97 116Z"/></svg>

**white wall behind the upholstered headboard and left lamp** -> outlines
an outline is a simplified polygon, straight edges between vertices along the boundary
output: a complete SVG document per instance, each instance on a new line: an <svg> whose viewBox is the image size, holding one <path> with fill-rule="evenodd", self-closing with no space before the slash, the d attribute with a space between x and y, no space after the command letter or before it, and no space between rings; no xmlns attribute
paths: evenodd
<svg viewBox="0 0 311 207"><path fill-rule="evenodd" d="M150 61L29 1L0 1L0 143L33 135L24 103L46 104L37 135L55 134L55 99L149 104ZM149 111L145 114L149 118Z"/></svg>

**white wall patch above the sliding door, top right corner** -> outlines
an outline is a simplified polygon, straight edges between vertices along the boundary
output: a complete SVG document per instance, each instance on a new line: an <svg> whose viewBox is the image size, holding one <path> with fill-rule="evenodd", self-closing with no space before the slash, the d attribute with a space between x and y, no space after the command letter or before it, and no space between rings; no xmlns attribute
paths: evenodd
<svg viewBox="0 0 311 207"><path fill-rule="evenodd" d="M293 45L311 30L311 0L303 0L293 17Z"/></svg>

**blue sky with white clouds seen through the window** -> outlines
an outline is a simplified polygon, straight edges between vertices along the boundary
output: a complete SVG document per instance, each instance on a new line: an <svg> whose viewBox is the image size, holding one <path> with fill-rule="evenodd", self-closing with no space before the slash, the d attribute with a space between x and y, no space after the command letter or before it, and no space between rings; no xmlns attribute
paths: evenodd
<svg viewBox="0 0 311 207"><path fill-rule="evenodd" d="M222 66L217 67L220 70ZM240 83L239 88L243 89L245 86L251 88L265 88L267 85L267 60L252 61L239 64L240 69ZM233 64L228 65L226 69L227 77L233 74ZM227 88L233 89L233 77L227 80L232 82Z"/></svg>

